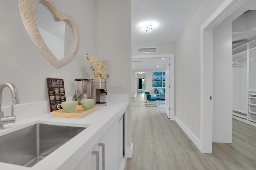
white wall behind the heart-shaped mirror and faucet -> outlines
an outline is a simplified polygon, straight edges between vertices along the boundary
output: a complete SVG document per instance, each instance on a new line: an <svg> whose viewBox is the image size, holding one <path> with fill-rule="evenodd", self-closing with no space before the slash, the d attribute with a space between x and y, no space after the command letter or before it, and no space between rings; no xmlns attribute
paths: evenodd
<svg viewBox="0 0 256 170"><path fill-rule="evenodd" d="M74 78L89 78L90 63L84 53L96 53L95 1L54 0L58 10L72 16L80 28L78 53L70 63L61 68L55 68L49 63L30 40L21 21L17 3L0 1L0 83L12 82L18 89L21 104L41 102L48 100L46 77L60 74L64 79L66 96L73 96ZM5 89L2 106L12 104L10 96L9 90Z"/></svg>

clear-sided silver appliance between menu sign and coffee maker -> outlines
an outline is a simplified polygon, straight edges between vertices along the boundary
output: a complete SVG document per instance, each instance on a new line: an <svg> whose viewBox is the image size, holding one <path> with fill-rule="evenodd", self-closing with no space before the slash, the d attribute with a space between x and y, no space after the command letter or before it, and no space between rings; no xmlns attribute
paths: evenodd
<svg viewBox="0 0 256 170"><path fill-rule="evenodd" d="M75 96L73 100L82 100L87 99L87 79L84 78L75 78Z"/></svg>

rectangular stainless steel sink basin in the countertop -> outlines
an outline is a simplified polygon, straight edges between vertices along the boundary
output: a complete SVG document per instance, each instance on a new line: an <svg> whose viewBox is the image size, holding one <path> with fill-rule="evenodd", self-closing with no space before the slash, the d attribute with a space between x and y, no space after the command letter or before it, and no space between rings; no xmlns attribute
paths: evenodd
<svg viewBox="0 0 256 170"><path fill-rule="evenodd" d="M31 167L84 129L37 123L0 136L0 162Z"/></svg>

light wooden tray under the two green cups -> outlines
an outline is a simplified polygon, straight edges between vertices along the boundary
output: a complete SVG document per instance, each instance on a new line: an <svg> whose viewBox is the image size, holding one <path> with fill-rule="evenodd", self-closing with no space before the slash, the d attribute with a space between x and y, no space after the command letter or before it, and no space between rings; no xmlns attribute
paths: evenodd
<svg viewBox="0 0 256 170"><path fill-rule="evenodd" d="M99 106L92 106L90 110L84 110L84 108L81 105L77 105L74 113L66 113L63 111L63 109L51 111L52 115L54 117L72 117L72 118L81 118L85 115L88 115L95 110L98 109Z"/></svg>

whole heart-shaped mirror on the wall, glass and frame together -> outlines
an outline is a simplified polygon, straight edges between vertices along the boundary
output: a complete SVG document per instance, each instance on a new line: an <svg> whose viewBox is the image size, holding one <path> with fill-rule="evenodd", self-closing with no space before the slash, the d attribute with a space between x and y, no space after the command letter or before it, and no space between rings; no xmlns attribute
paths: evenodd
<svg viewBox="0 0 256 170"><path fill-rule="evenodd" d="M36 9L39 5L38 2L40 2L40 5L42 4L45 8L47 8L47 10L52 14L52 17L54 18L56 23L62 22L62 24L60 25L64 24L66 25L66 28L70 27L69 33L67 33L66 30L64 30L63 33L64 35L71 34L71 36L69 36L70 41L67 42L65 40L64 42L64 51L56 50L56 43L53 48L49 45L49 42L52 43L51 40L58 39L60 37L59 35L53 35L52 31L49 31L49 27L45 27L44 29L42 29L41 25L38 26L39 22L37 22L37 19L41 19L40 16L36 16ZM75 21L70 16L58 12L51 0L18 0L18 6L22 22L24 24L24 27L26 28L26 31L28 32L28 35L30 36L30 39L32 39L36 47L39 49L42 55L44 55L44 57L48 61L50 61L50 63L59 68L60 66L67 64L74 58L79 46L79 32ZM40 8L43 9L42 7ZM59 31L59 33L60 32L61 31ZM50 38L47 38L49 37L49 35ZM66 48L67 46L68 49ZM60 57L57 54L60 54Z"/></svg>

